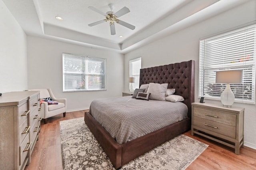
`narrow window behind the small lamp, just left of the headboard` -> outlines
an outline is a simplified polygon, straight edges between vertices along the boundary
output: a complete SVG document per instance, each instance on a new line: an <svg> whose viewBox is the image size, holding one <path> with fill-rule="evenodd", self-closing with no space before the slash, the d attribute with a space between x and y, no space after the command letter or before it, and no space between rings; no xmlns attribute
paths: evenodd
<svg viewBox="0 0 256 170"><path fill-rule="evenodd" d="M129 61L129 77L135 77L135 83L130 84L130 91L139 88L140 84L141 57Z"/></svg>

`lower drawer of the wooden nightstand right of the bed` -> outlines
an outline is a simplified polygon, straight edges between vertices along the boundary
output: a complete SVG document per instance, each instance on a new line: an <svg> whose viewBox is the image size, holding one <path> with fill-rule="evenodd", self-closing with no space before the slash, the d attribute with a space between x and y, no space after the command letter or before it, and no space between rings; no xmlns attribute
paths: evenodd
<svg viewBox="0 0 256 170"><path fill-rule="evenodd" d="M218 123L215 121L210 121L208 119L202 119L200 117L193 117L193 126L201 127L212 132L223 134L231 138L236 138L236 127L226 125L223 123Z"/></svg>

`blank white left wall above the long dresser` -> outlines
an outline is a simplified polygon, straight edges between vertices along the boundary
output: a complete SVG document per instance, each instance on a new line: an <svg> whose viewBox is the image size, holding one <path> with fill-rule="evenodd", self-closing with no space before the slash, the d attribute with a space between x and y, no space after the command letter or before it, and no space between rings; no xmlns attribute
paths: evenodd
<svg viewBox="0 0 256 170"><path fill-rule="evenodd" d="M0 93L28 87L26 34L0 0Z"/></svg>

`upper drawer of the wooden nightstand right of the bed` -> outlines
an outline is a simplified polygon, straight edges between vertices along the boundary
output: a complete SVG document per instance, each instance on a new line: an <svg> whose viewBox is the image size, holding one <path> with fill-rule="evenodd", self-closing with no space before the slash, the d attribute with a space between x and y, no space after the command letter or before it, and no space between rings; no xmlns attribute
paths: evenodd
<svg viewBox="0 0 256 170"><path fill-rule="evenodd" d="M230 126L236 126L236 115L213 111L210 109L203 109L193 107L193 116L208 119L218 123L223 123Z"/></svg>

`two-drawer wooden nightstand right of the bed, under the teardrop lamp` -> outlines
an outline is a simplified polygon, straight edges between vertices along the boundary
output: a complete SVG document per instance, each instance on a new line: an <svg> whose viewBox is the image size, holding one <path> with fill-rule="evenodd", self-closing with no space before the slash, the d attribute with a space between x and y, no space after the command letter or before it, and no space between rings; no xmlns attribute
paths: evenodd
<svg viewBox="0 0 256 170"><path fill-rule="evenodd" d="M191 135L194 134L230 146L239 154L244 145L244 108L192 103Z"/></svg>

